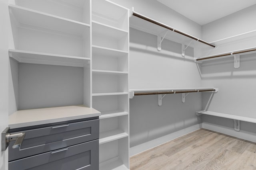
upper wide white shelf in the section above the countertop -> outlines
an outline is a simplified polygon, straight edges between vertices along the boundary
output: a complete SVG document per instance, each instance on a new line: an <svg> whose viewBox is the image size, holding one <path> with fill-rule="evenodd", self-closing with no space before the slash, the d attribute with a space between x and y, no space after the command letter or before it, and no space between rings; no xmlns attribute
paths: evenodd
<svg viewBox="0 0 256 170"><path fill-rule="evenodd" d="M89 24L74 21L44 12L31 10L28 8L9 5L10 14L13 14L18 23L25 25L33 25L55 31L71 33L74 35L83 35L90 27Z"/></svg>

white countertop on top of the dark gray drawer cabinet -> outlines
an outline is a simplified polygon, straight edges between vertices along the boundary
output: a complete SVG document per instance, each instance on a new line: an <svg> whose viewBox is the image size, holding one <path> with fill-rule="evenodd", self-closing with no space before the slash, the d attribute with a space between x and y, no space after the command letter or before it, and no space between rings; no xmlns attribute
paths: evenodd
<svg viewBox="0 0 256 170"><path fill-rule="evenodd" d="M9 115L11 129L100 116L96 109L85 106L64 106L19 110Z"/></svg>

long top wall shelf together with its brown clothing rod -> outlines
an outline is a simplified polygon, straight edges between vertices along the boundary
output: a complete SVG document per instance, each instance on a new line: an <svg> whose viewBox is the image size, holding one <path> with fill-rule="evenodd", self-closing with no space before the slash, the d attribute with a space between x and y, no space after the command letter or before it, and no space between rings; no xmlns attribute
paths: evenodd
<svg viewBox="0 0 256 170"><path fill-rule="evenodd" d="M173 27L170 27L169 25L153 20L152 18L149 18L142 14L139 14L138 12L134 12L133 9L131 12L131 16L133 17L130 17L130 27L134 29L138 29L140 31L144 31L160 37L165 37L170 41L190 45L191 47L215 47L215 45L203 41L202 39L179 31ZM165 35L167 30L168 32ZM193 41L191 42L191 40Z"/></svg>

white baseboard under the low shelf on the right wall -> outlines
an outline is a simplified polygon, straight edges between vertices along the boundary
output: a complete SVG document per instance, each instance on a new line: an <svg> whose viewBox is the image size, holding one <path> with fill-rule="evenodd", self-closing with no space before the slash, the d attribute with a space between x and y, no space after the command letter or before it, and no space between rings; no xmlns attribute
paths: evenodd
<svg viewBox="0 0 256 170"><path fill-rule="evenodd" d="M215 125L215 124L206 123L206 122L202 123L202 128L208 129L208 130L211 130L211 131L216 131L216 132L219 132L219 133L223 133L223 134L226 134L226 135L230 135L230 136L233 136L233 137L237 137L237 138L240 138L240 139L244 139L244 140L247 140L247 141L256 142L256 133L251 133L251 132L242 131L242 130L240 130L238 132L238 131L235 131L234 128Z"/></svg>

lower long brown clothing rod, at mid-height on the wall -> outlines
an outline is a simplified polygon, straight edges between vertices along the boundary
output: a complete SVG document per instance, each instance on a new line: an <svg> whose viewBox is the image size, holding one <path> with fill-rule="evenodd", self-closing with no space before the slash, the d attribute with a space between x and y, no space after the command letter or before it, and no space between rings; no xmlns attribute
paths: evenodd
<svg viewBox="0 0 256 170"><path fill-rule="evenodd" d="M215 91L215 89L204 89L204 90L171 90L164 92L134 92L134 96L140 95L152 95L152 94L176 94L176 93L192 93L192 92L211 92Z"/></svg>

